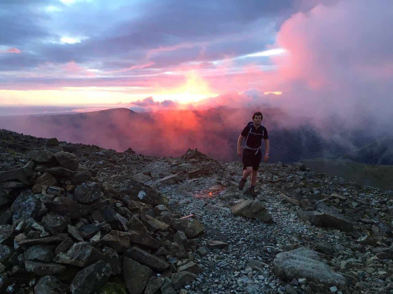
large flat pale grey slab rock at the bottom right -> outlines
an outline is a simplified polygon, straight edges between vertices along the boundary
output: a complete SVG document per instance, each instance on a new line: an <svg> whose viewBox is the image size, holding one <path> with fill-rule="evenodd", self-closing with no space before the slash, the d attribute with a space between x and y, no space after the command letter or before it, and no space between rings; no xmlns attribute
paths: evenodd
<svg viewBox="0 0 393 294"><path fill-rule="evenodd" d="M347 279L321 262L320 256L306 247L280 252L274 259L273 265L277 276L289 281L306 278L307 281L326 286L347 284Z"/></svg>

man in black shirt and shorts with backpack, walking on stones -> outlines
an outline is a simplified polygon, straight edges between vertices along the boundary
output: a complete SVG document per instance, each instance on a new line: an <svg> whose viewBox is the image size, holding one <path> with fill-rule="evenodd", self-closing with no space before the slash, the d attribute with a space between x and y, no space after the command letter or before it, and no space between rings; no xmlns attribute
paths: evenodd
<svg viewBox="0 0 393 294"><path fill-rule="evenodd" d="M263 115L260 111L252 115L253 122L248 123L248 125L241 132L239 139L237 139L237 155L242 156L241 143L244 137L244 151L243 151L243 177L239 182L239 190L243 190L244 184L246 183L247 177L251 174L251 185L250 185L250 195L255 198L257 194L255 193L255 184L257 183L257 171L259 164L262 159L262 140L264 140L265 153L263 160L267 162L269 160L269 137L268 131L261 124Z"/></svg>

